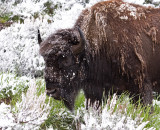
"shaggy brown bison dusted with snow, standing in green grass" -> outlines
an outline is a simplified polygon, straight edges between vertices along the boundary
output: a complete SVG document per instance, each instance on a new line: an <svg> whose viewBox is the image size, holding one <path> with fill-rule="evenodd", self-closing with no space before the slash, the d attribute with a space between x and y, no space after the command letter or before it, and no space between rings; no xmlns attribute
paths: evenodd
<svg viewBox="0 0 160 130"><path fill-rule="evenodd" d="M109 91L152 104L152 92L160 92L159 21L159 8L110 0L83 10L73 28L44 41L38 33L47 95L70 110L80 90L87 104Z"/></svg>

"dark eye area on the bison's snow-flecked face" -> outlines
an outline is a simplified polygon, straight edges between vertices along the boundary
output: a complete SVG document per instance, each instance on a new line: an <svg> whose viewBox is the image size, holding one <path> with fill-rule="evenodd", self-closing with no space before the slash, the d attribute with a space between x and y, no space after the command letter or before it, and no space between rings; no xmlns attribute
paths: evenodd
<svg viewBox="0 0 160 130"><path fill-rule="evenodd" d="M59 58L59 67L63 68L63 67L69 67L71 65L73 65L74 60L71 56L67 56L67 57L60 57Z"/></svg>

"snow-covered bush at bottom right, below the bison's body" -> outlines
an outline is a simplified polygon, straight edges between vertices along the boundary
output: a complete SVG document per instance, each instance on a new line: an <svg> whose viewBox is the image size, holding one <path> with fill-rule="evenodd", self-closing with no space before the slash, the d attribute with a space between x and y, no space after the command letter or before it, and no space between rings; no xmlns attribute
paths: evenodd
<svg viewBox="0 0 160 130"><path fill-rule="evenodd" d="M117 103L117 95L114 94L112 99L108 99L107 105L101 112L90 108L90 110L84 113L84 123L81 124L82 130L142 130L148 124L143 122L143 118L137 116L134 120L131 116L127 115L126 106L129 101L122 104L118 104L118 108L115 109ZM119 107L120 106L120 107ZM114 112L115 111L115 112ZM150 128L154 130L154 128Z"/></svg>

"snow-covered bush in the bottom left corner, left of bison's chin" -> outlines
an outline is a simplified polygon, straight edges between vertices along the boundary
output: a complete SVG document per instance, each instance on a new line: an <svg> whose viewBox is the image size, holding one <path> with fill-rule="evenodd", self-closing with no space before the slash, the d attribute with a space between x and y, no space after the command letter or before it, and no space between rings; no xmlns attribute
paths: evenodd
<svg viewBox="0 0 160 130"><path fill-rule="evenodd" d="M37 96L37 86L31 80L27 93L22 94L22 101L17 102L16 106L0 105L0 129L38 129L51 109L45 101L46 94Z"/></svg>

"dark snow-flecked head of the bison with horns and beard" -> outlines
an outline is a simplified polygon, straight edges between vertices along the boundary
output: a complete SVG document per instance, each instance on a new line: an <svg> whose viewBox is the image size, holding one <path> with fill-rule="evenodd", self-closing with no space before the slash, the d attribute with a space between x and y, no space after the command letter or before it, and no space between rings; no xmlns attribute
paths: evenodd
<svg viewBox="0 0 160 130"><path fill-rule="evenodd" d="M38 31L38 42L45 61L47 95L63 100L72 110L80 84L86 77L83 33L79 28L58 30L42 41Z"/></svg>

